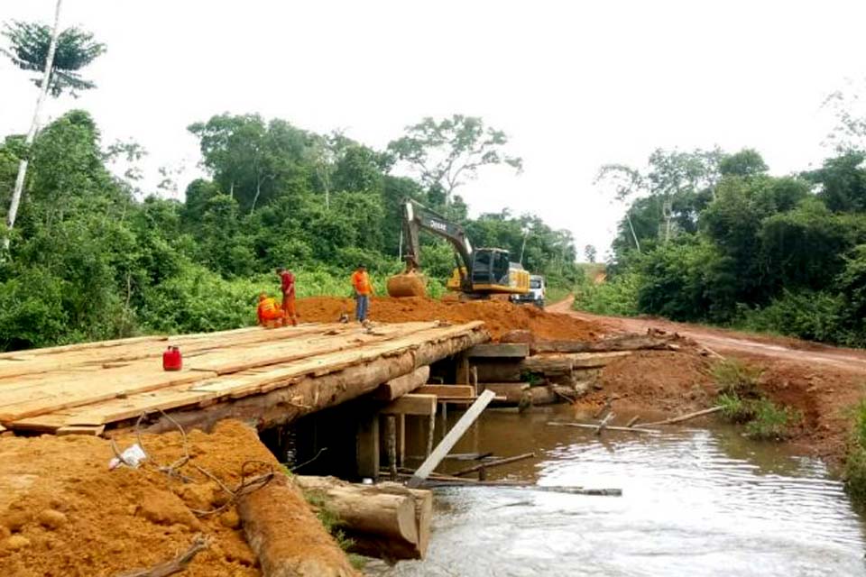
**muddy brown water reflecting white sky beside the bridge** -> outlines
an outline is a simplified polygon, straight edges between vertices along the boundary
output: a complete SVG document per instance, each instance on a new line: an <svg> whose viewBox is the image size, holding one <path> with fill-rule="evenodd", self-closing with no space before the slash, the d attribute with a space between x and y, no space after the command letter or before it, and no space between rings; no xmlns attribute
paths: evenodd
<svg viewBox="0 0 866 577"><path fill-rule="evenodd" d="M568 408L490 412L455 453L535 451L489 479L622 488L586 497L437 490L428 559L376 575L863 575L863 519L822 463L732 428L659 435L547 426ZM440 421L441 423L441 421ZM466 463L449 463L452 469Z"/></svg>

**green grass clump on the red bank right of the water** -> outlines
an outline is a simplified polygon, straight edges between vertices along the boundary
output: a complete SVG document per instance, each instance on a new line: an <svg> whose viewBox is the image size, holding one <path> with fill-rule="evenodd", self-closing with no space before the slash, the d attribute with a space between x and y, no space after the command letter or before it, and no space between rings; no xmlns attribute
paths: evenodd
<svg viewBox="0 0 866 577"><path fill-rule="evenodd" d="M722 408L722 417L745 425L749 438L780 441L802 419L799 411L764 397L759 388L760 367L729 359L715 363L711 373L719 386L716 405Z"/></svg>

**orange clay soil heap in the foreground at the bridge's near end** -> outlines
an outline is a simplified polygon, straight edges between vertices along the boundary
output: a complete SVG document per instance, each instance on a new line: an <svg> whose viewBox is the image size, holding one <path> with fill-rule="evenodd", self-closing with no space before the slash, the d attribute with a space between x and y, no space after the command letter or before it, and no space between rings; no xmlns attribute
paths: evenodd
<svg viewBox="0 0 866 577"><path fill-rule="evenodd" d="M118 439L122 448L132 443L131 436ZM183 453L178 433L143 435L143 444L162 464ZM184 483L154 466L109 471L114 453L105 439L0 437L0 574L84 577L149 568L187 550L198 533L211 544L184 575L261 574L234 506L211 517L190 510L217 508L228 499L192 465L235 487L244 462L276 466L276 460L253 430L234 421L219 424L211 435L190 432L189 452L192 460L182 473L191 481ZM286 543L299 555L342 555L303 499L293 505L309 522L296 524Z"/></svg>

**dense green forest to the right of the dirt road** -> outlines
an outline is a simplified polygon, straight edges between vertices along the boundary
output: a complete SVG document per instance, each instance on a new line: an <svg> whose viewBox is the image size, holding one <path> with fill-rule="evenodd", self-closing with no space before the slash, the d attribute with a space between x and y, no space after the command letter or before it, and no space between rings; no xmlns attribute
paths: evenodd
<svg viewBox="0 0 866 577"><path fill-rule="evenodd" d="M784 177L754 150L603 167L597 184L626 211L607 282L585 282L576 306L866 344L864 160L847 140Z"/></svg>

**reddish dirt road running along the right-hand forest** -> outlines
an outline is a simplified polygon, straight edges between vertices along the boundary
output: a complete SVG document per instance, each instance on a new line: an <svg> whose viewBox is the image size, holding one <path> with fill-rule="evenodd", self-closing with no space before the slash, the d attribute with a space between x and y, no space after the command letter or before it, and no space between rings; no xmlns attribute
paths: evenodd
<svg viewBox="0 0 866 577"><path fill-rule="evenodd" d="M784 359L813 365L825 365L843 371L862 372L866 378L866 351L836 348L787 337L737 333L701 325L674 323L659 318L593 315L572 310L573 302L574 298L567 298L547 307L547 310L552 313L566 313L576 318L592 321L609 327L612 332L643 333L648 328L654 327L687 336L721 354L769 357L776 361Z"/></svg>

